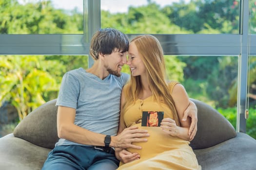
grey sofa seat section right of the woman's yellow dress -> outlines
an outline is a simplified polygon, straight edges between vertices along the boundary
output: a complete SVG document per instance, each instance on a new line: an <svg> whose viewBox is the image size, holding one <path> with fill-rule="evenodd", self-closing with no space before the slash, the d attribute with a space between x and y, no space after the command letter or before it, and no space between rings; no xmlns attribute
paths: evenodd
<svg viewBox="0 0 256 170"><path fill-rule="evenodd" d="M194 150L202 170L255 170L255 151L256 140L241 132L215 146Z"/></svg>

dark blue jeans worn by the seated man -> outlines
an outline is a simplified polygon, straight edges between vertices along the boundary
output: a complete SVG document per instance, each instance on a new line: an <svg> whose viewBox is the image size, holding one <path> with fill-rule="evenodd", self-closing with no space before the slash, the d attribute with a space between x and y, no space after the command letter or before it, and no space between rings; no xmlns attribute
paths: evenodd
<svg viewBox="0 0 256 170"><path fill-rule="evenodd" d="M90 146L56 146L44 162L42 170L116 170L119 161L110 153Z"/></svg>

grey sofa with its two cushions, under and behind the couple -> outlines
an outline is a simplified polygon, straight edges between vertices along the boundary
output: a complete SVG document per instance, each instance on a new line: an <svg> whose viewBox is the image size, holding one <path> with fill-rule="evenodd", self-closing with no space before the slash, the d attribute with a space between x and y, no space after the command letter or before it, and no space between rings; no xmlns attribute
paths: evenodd
<svg viewBox="0 0 256 170"><path fill-rule="evenodd" d="M191 142L203 170L256 170L256 140L236 133L211 106L198 109L198 131ZM57 136L56 100L31 112L12 134L0 138L0 170L40 170Z"/></svg>

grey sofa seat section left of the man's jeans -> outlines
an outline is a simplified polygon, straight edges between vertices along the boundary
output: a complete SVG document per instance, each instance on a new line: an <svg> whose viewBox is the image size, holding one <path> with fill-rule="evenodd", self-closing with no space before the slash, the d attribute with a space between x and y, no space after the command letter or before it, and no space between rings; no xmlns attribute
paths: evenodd
<svg viewBox="0 0 256 170"><path fill-rule="evenodd" d="M3 136L0 138L0 170L41 170L50 151L13 134Z"/></svg>

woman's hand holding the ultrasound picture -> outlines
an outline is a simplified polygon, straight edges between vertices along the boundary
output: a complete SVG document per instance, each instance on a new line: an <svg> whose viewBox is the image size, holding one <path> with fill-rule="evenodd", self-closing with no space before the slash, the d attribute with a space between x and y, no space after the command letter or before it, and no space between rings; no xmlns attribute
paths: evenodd
<svg viewBox="0 0 256 170"><path fill-rule="evenodd" d="M174 119L171 119L171 118L162 119L160 127L168 135L178 136L179 134L179 129Z"/></svg>

